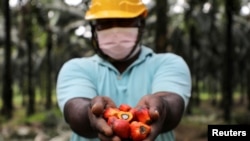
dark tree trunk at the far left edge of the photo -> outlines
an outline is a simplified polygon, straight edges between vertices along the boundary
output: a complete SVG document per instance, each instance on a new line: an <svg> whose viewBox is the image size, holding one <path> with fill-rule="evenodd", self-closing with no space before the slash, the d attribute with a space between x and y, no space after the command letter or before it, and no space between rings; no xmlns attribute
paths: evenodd
<svg viewBox="0 0 250 141"><path fill-rule="evenodd" d="M2 94L2 114L6 118L12 117L13 111L13 90L12 90L12 63L11 63L11 17L10 17L10 7L9 1L4 0L3 4L4 9L4 16L5 16L5 56L4 56L4 69L3 69L3 94Z"/></svg>

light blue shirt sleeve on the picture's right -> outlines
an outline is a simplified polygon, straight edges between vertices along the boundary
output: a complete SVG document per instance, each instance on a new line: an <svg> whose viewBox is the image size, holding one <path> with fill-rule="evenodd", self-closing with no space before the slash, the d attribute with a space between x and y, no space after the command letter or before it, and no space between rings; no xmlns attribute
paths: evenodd
<svg viewBox="0 0 250 141"><path fill-rule="evenodd" d="M156 70L152 90L173 92L180 95L185 108L191 96L191 74L186 62L175 54L163 54L163 59Z"/></svg>

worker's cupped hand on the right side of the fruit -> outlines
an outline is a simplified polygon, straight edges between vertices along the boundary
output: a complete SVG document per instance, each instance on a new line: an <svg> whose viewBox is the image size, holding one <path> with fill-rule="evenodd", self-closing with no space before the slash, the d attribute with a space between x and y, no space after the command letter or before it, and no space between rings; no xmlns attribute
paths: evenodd
<svg viewBox="0 0 250 141"><path fill-rule="evenodd" d="M152 123L150 134L143 141L154 141L161 133L167 115L167 102L158 95L150 94L141 98L135 108L147 107Z"/></svg>

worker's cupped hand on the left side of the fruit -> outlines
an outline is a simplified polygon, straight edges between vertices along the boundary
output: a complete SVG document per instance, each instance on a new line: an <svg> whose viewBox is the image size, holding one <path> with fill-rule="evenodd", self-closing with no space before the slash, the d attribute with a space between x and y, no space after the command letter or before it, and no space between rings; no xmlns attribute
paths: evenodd
<svg viewBox="0 0 250 141"><path fill-rule="evenodd" d="M93 98L88 110L90 124L101 141L121 141L119 137L113 136L111 127L102 116L104 110L108 107L116 107L109 97L97 96Z"/></svg>

